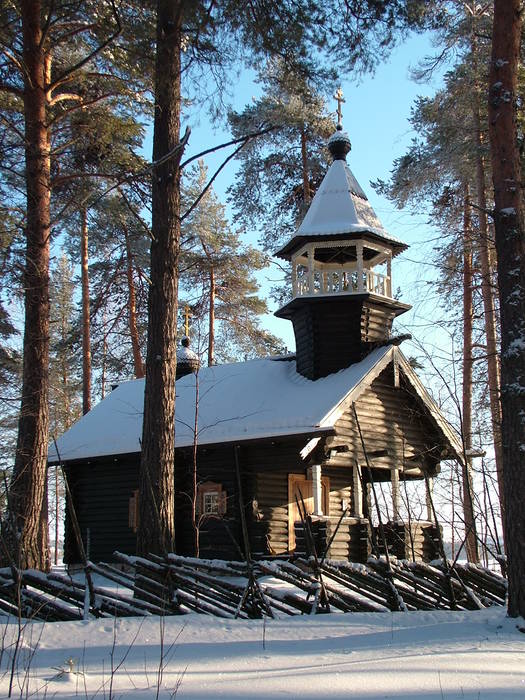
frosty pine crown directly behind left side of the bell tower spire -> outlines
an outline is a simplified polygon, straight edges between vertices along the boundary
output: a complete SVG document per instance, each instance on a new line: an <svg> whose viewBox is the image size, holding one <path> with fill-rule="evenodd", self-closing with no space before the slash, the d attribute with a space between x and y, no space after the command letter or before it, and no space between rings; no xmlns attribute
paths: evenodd
<svg viewBox="0 0 525 700"><path fill-rule="evenodd" d="M258 230L271 252L300 223L324 177L326 141L335 122L323 97L282 61L269 61L259 81L263 96L229 115L232 133L239 136L264 124L276 128L242 149L229 194L235 221Z"/></svg>

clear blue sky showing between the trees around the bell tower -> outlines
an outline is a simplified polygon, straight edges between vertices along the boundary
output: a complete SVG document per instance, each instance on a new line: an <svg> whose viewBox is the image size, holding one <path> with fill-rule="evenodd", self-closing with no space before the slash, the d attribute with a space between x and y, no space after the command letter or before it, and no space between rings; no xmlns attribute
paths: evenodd
<svg viewBox="0 0 525 700"><path fill-rule="evenodd" d="M352 75L342 75L340 81L346 100L343 105L343 125L352 141L348 163L385 228L410 245L408 252L396 258L393 266L393 288L401 287L402 300L414 305L410 317L407 314L403 319L406 319L408 325L420 322L424 324L428 320L428 301L424 304L422 301L428 296L427 281L433 274L428 261L436 232L427 225L424 212L420 215L400 212L391 202L374 192L370 181L387 179L393 161L403 155L410 143L413 133L408 119L415 98L418 95L432 95L440 86L441 75L436 76L430 84L416 84L410 78L410 67L429 53L432 53L429 36L413 36L398 46L390 59L380 65L373 75L363 76L359 80ZM234 109L242 110L252 97L259 94L260 87L254 83L253 73L245 71L236 81L231 104ZM335 112L335 100L332 100L331 106ZM197 117L190 115L189 124L192 134L187 156L230 138L228 132L220 124L213 124L203 111ZM224 153L227 151L221 151L206 160L210 172L222 162ZM214 189L224 203L226 189L234 178L235 168L235 161L229 163L214 183ZM246 240L255 244L256 236L248 233ZM263 295L270 287L268 280L277 276L275 268L261 273L259 280ZM422 293L423 289L425 294ZM433 302L431 308L435 308ZM290 350L294 348L292 327L288 321L270 315L265 317L264 325L282 337Z"/></svg>

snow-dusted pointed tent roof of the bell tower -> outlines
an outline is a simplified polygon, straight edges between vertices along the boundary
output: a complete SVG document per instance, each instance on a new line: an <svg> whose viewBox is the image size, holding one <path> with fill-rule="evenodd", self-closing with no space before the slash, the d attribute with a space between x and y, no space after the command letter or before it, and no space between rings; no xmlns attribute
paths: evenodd
<svg viewBox="0 0 525 700"><path fill-rule="evenodd" d="M276 255L287 254L303 239L370 233L393 245L394 253L408 246L383 228L372 205L344 160L334 160L295 236Z"/></svg>

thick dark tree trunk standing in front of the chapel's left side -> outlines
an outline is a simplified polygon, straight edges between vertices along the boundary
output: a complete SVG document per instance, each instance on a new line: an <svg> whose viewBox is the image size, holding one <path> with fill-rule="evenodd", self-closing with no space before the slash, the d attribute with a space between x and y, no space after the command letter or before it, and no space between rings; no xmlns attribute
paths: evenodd
<svg viewBox="0 0 525 700"><path fill-rule="evenodd" d="M140 464L137 549L175 547L174 443L177 287L180 249L182 0L157 0L153 128L151 284ZM179 147L177 149L177 147ZM171 157L168 157L169 154Z"/></svg>

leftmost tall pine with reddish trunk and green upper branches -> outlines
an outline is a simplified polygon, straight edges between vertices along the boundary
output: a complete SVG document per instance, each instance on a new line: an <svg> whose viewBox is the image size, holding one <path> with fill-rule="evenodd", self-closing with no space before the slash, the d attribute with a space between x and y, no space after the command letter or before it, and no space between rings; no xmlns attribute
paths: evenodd
<svg viewBox="0 0 525 700"><path fill-rule="evenodd" d="M131 20L129 5L121 10ZM124 94L129 98L142 90L148 70L147 62L128 60L130 36L122 32L114 3L23 0L4 2L1 9L0 108L7 157L0 170L13 209L23 212L26 244L22 398L6 534L20 565L45 568L52 189L79 176L61 171L61 156L72 142L72 115L110 98L115 104ZM144 24L147 14L141 14ZM140 36L134 40L143 43Z"/></svg>

